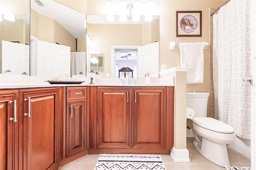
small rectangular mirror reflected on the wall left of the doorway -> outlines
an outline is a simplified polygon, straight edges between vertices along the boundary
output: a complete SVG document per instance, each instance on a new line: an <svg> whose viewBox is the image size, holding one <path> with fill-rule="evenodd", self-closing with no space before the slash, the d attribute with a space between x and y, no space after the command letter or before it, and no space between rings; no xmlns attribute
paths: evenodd
<svg viewBox="0 0 256 170"><path fill-rule="evenodd" d="M90 53L90 70L103 71L103 53Z"/></svg>

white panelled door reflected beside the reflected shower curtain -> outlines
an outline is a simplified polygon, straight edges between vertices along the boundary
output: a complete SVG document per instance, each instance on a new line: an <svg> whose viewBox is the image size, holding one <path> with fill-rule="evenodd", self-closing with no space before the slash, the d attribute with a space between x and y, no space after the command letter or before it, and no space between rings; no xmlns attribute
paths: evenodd
<svg viewBox="0 0 256 170"><path fill-rule="evenodd" d="M70 73L70 47L55 43L37 42L37 76Z"/></svg>

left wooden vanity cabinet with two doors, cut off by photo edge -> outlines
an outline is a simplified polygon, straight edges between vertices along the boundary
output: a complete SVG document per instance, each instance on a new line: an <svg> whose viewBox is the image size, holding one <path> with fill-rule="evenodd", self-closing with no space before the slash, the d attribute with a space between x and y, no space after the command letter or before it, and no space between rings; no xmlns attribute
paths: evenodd
<svg viewBox="0 0 256 170"><path fill-rule="evenodd" d="M59 168L59 100L58 87L0 90L1 170Z"/></svg>

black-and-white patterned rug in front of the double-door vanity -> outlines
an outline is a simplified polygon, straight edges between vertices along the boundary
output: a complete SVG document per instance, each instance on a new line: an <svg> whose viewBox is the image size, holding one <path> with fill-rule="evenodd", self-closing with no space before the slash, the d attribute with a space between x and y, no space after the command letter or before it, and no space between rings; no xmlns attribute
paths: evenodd
<svg viewBox="0 0 256 170"><path fill-rule="evenodd" d="M165 170L160 155L100 154L94 170Z"/></svg>

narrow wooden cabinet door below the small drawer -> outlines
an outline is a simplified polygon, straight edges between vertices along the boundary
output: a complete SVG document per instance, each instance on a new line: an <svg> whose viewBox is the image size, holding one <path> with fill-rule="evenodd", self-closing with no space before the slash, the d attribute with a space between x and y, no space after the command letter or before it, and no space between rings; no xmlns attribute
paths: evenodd
<svg viewBox="0 0 256 170"><path fill-rule="evenodd" d="M86 100L67 101L66 158L86 150Z"/></svg>

